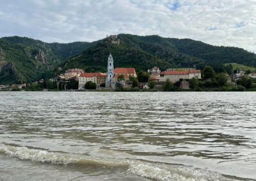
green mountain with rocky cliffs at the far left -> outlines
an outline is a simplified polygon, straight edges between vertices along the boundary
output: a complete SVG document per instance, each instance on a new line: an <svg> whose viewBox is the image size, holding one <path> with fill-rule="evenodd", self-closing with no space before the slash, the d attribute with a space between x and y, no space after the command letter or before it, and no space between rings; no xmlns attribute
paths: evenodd
<svg viewBox="0 0 256 181"><path fill-rule="evenodd" d="M31 82L97 42L45 43L19 36L0 38L0 83Z"/></svg>

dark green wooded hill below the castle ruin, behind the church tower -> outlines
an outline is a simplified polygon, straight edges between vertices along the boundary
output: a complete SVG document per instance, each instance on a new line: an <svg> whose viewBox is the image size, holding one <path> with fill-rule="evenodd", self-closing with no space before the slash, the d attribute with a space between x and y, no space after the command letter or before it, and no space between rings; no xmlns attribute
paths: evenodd
<svg viewBox="0 0 256 181"><path fill-rule="evenodd" d="M113 55L115 67L134 67L138 71L147 70L153 66L159 66L161 69L172 66L169 62L159 59L149 52L137 50L122 41L120 45L103 41L65 62L63 68L83 68L84 71L88 72L106 72L109 53Z"/></svg>

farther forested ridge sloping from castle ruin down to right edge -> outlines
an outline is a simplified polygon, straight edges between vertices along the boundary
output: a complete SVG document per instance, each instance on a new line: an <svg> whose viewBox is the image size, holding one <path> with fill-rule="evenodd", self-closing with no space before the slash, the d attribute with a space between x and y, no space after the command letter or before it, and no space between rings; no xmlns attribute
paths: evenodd
<svg viewBox="0 0 256 181"><path fill-rule="evenodd" d="M236 47L218 47L203 43L202 41L195 41L191 39L177 39L177 38L163 38L161 36L136 36L131 34L120 34L118 37L145 51L150 51L152 54L157 55L166 61L172 59L170 54L166 53L166 50L172 52L179 52L180 54L187 54L199 59L204 59L206 64L212 64L212 66L217 66L218 64L225 64L229 62L236 62L239 64L244 64L246 66L256 67L256 54L248 52L242 48ZM151 48L145 46L145 44L153 44L156 48ZM159 47L162 49L162 54L159 54ZM158 48L158 50L157 50ZM179 66L179 62L173 62L173 65ZM200 64L198 64L198 67Z"/></svg>

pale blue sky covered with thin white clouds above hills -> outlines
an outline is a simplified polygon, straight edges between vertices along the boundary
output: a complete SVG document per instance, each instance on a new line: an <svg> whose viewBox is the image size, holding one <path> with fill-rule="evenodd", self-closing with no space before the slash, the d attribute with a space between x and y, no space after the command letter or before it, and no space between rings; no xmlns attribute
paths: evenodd
<svg viewBox="0 0 256 181"><path fill-rule="evenodd" d="M0 37L70 43L120 33L256 52L256 0L0 0Z"/></svg>

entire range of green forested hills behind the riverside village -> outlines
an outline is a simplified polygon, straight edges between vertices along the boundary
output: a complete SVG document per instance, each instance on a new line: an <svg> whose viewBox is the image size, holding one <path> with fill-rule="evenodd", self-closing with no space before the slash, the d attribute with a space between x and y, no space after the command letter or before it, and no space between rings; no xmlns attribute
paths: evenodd
<svg viewBox="0 0 256 181"><path fill-rule="evenodd" d="M223 64L239 63L256 67L256 55L242 48L218 47L202 41L161 36L118 34L119 45L104 40L74 43L45 43L19 36L0 38L0 83L31 82L52 77L58 67L83 68L84 71L107 71L111 52L115 67L134 67L146 71L153 66L161 70L171 67L216 71Z"/></svg>

